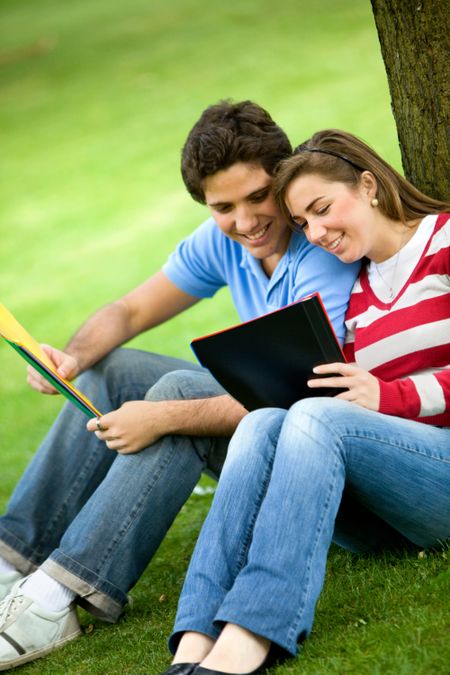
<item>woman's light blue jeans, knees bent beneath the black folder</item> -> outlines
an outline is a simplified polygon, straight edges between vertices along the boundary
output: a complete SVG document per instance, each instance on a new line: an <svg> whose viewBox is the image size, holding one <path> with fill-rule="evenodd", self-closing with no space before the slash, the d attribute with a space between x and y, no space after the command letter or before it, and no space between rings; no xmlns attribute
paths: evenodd
<svg viewBox="0 0 450 675"><path fill-rule="evenodd" d="M226 622L291 654L311 631L334 539L353 551L450 536L450 429L333 398L240 423L169 642Z"/></svg>

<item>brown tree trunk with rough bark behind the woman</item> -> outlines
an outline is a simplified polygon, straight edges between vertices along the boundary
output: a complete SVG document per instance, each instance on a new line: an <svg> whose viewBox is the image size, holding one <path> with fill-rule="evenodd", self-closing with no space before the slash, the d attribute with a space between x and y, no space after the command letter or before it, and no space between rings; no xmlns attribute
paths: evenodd
<svg viewBox="0 0 450 675"><path fill-rule="evenodd" d="M405 176L450 200L449 0L371 0Z"/></svg>

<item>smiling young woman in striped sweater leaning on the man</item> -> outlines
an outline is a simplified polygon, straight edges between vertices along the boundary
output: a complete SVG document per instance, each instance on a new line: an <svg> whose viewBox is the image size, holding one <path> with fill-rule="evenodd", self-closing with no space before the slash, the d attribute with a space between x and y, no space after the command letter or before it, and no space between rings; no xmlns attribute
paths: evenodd
<svg viewBox="0 0 450 675"><path fill-rule="evenodd" d="M366 261L347 363L309 382L344 392L240 423L179 601L172 675L295 655L332 541L357 552L450 537L449 205L336 130L282 162L275 190L312 243Z"/></svg>

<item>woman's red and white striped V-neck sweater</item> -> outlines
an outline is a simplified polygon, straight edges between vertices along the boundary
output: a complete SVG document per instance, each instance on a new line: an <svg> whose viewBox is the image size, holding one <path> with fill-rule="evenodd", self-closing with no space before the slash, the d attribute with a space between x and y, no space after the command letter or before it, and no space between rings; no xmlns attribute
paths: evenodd
<svg viewBox="0 0 450 675"><path fill-rule="evenodd" d="M344 353L380 383L380 412L450 427L450 214L390 303L363 268L346 316Z"/></svg>

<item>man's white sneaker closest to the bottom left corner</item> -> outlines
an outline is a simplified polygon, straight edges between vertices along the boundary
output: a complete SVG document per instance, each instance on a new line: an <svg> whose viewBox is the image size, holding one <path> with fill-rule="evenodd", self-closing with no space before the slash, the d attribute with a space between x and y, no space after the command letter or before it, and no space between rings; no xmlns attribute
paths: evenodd
<svg viewBox="0 0 450 675"><path fill-rule="evenodd" d="M33 661L81 635L75 607L49 612L22 592L20 580L0 602L0 670Z"/></svg>

